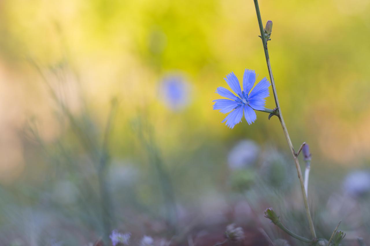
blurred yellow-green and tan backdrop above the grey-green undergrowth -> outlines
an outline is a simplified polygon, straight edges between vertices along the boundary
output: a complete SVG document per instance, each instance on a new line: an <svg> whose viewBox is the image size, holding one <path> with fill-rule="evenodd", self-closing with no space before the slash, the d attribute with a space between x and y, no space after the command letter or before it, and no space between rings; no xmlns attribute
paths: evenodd
<svg viewBox="0 0 370 246"><path fill-rule="evenodd" d="M272 69L295 146L307 141L323 163L368 160L369 1L265 0L260 8L263 21L273 21ZM198 135L204 141L253 137L285 144L277 119L260 112L255 124L230 130L211 107L229 72L240 79L250 68L259 79L268 76L258 34L253 1L2 0L1 182L22 173L19 130L30 117L38 119L47 141L60 133L30 59L43 69L67 64L73 82L65 96L76 112L78 93L98 118L105 119L113 96L121 100L120 124L145 112L164 149L186 148L184 138L194 147L191 138ZM191 103L181 112L158 100L160 78L171 72L192 85ZM273 107L272 96L267 107Z"/></svg>

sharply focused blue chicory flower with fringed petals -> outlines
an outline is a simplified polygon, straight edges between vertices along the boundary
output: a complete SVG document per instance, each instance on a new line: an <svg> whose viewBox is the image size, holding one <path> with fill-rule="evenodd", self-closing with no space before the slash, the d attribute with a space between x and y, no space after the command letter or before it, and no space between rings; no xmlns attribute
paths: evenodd
<svg viewBox="0 0 370 246"><path fill-rule="evenodd" d="M220 109L221 113L229 113L228 116L221 122L226 121L226 126L231 129L242 121L242 116L244 112L244 117L248 124L255 122L257 116L254 110L264 110L265 109L265 98L269 96L269 86L270 82L263 78L251 91L253 85L256 82L256 73L254 70L245 69L243 76L243 91L240 88L238 78L235 74L231 72L226 75L226 83L230 88L238 95L235 96L231 91L226 88L218 87L216 93L220 96L229 99L217 99L213 100L215 104L213 109ZM253 110L254 109L254 110Z"/></svg>

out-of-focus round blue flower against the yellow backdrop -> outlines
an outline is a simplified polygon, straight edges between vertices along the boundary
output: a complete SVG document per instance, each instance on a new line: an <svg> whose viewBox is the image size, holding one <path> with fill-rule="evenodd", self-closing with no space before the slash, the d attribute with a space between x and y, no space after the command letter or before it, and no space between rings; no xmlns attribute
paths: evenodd
<svg viewBox="0 0 370 246"><path fill-rule="evenodd" d="M181 75L168 75L160 85L160 96L171 110L180 110L189 104L190 86Z"/></svg>

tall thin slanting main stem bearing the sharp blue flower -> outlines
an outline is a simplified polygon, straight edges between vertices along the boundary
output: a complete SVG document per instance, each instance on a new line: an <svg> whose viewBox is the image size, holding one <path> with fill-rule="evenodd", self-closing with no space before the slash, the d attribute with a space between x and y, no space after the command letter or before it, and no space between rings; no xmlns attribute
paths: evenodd
<svg viewBox="0 0 370 246"><path fill-rule="evenodd" d="M315 232L315 229L314 229L314 226L313 226L313 221L312 221L312 218L311 218L310 209L308 207L305 186L303 184L302 172L300 170L300 166L299 166L298 158L296 156L296 152L295 152L295 150L293 148L292 140L290 140L289 133L288 133L288 131L286 129L286 125L285 125L285 122L284 122L284 119L283 119L283 115L282 115L282 112L281 112L281 109L280 109L280 105L279 105L279 100L277 99L277 93L276 93L276 87L275 87L275 80L274 80L274 77L272 75L271 64L270 64L270 57L269 57L269 52L268 52L268 49L267 49L267 41L266 41L265 35L264 35L264 30L263 30L263 25L262 25L262 20L261 20L261 14L260 14L259 7L258 7L258 0L253 0L253 1L254 1L255 8L256 8L256 14L257 14L257 19L258 19L259 29L260 29L260 32L261 32L261 39L262 39L262 44L263 44L263 50L265 51L267 68L268 68L269 75L270 75L271 87L272 87L272 91L273 91L273 95L274 95L274 99L275 99L276 110L277 110L277 113L278 113L277 115L279 116L279 120L280 120L281 126L283 128L283 131L284 131L284 134L285 134L285 138L286 138L286 140L288 142L288 145L290 147L290 150L292 151L294 162L296 164L298 178L299 178L300 186L301 186L301 190L302 190L303 201L305 202L306 216L307 216L307 220L308 220L308 223L309 223L309 226L310 226L310 231L311 231L312 237L313 238L316 238L316 232Z"/></svg>

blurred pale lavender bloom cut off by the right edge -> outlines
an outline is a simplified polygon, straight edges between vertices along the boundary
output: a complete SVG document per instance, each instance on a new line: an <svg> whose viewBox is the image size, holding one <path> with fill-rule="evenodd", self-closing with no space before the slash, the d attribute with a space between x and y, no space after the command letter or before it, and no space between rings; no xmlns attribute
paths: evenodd
<svg viewBox="0 0 370 246"><path fill-rule="evenodd" d="M370 173L354 171L347 175L343 183L344 190L352 197L361 197L370 192Z"/></svg>

